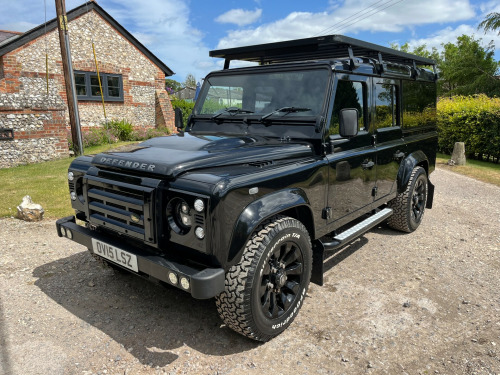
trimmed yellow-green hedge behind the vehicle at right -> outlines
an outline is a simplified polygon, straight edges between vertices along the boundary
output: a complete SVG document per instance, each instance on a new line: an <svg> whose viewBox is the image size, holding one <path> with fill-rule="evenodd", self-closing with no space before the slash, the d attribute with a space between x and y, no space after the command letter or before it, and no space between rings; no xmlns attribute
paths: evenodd
<svg viewBox="0 0 500 375"><path fill-rule="evenodd" d="M486 95L442 98L437 104L439 150L451 154L465 143L469 158L500 159L500 98Z"/></svg>

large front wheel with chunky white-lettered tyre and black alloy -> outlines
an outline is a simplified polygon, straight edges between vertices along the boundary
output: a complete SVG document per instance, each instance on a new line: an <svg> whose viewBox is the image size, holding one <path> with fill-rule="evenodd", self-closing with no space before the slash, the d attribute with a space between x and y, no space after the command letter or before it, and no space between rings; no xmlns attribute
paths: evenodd
<svg viewBox="0 0 500 375"><path fill-rule="evenodd" d="M302 306L311 267L311 239L304 225L285 216L265 221L226 274L225 291L216 297L221 319L257 341L279 335Z"/></svg>

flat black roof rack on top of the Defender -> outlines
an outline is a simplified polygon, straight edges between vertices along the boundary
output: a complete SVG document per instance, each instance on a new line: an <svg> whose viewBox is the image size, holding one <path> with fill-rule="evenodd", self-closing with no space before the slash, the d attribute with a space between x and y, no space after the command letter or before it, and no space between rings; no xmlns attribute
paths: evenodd
<svg viewBox="0 0 500 375"><path fill-rule="evenodd" d="M231 60L253 61L260 64L275 64L305 60L331 60L350 58L349 48L354 57L370 57L385 62L413 65L435 65L435 61L425 57L401 52L392 48L364 42L344 35L326 35L285 42L259 44L210 51L211 57L226 59L226 67Z"/></svg>

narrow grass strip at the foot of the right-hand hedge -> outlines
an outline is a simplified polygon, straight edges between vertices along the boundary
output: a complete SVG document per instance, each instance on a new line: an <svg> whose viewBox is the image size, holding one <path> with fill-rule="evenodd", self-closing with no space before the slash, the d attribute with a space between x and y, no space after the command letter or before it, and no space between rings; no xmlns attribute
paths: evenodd
<svg viewBox="0 0 500 375"><path fill-rule="evenodd" d="M480 160L467 160L466 165L449 166L450 155L437 154L436 163L445 169L500 186L500 164Z"/></svg>

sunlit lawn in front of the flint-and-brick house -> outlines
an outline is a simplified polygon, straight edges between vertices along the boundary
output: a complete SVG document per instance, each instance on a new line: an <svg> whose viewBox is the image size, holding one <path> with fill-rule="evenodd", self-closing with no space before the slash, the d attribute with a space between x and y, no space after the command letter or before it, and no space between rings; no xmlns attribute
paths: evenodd
<svg viewBox="0 0 500 375"><path fill-rule="evenodd" d="M89 147L85 154L97 154L130 143L135 142ZM47 218L72 215L74 211L70 204L67 174L73 160L66 158L0 169L0 218L15 216L16 207L25 195L42 205Z"/></svg>

